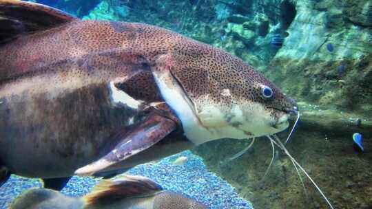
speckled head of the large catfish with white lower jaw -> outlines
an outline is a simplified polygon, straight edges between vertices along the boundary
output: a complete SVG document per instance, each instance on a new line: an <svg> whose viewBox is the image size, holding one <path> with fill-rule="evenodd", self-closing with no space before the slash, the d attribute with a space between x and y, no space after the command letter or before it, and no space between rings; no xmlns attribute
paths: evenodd
<svg viewBox="0 0 372 209"><path fill-rule="evenodd" d="M178 91L163 86L167 90L161 93L190 140L201 144L287 129L290 113L297 111L296 102L260 72L240 58L207 45L191 43L182 52L167 62Z"/></svg>

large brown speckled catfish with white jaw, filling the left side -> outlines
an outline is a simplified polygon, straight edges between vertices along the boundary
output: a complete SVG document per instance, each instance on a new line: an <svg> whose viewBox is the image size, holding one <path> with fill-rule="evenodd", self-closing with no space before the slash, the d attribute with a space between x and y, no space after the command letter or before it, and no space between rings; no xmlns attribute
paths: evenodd
<svg viewBox="0 0 372 209"><path fill-rule="evenodd" d="M0 166L61 189L220 138L287 129L296 103L223 50L142 23L0 0ZM1 184L1 183L0 183Z"/></svg>

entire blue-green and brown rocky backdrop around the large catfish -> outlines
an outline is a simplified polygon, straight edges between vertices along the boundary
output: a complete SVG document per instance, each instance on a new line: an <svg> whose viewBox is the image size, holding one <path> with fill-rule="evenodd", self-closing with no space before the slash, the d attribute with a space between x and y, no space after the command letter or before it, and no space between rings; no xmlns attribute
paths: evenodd
<svg viewBox="0 0 372 209"><path fill-rule="evenodd" d="M372 208L371 0L38 2L83 19L160 25L239 56L300 102L303 119L289 152L335 208ZM353 150L355 132L364 135L362 154ZM196 152L255 208L327 208L309 181L304 192L281 152L262 180L271 156L267 139L221 164L248 144L220 140Z"/></svg>

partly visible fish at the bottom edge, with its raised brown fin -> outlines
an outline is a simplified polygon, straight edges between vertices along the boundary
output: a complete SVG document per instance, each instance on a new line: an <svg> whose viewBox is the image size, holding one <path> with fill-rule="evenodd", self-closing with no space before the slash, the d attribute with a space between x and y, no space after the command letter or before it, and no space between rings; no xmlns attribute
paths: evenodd
<svg viewBox="0 0 372 209"><path fill-rule="evenodd" d="M163 190L151 179L125 176L103 180L84 197L68 197L62 192L34 188L24 192L10 209L207 209L205 204L176 192Z"/></svg>

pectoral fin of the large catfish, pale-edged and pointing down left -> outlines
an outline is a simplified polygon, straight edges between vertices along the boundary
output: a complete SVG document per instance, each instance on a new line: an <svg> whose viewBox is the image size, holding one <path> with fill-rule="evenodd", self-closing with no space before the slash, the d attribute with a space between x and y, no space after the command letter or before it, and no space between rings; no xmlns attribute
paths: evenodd
<svg viewBox="0 0 372 209"><path fill-rule="evenodd" d="M177 124L156 112L149 114L141 124L123 128L114 135L114 141L119 141L115 148L98 161L79 168L76 175L94 175L105 168L122 162L137 153L153 146L166 135L176 130Z"/></svg>

